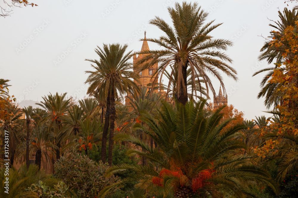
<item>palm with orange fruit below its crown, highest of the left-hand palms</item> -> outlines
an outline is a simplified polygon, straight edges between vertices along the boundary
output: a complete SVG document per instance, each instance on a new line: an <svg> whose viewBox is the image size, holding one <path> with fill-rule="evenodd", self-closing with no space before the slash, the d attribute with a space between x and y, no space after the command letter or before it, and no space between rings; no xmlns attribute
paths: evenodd
<svg viewBox="0 0 298 198"><path fill-rule="evenodd" d="M55 132L55 145L58 147L56 150L56 160L60 159L60 147L65 143L63 142L63 139L66 134L61 130L63 127L61 116L63 116L70 107L71 100L66 98L66 94L67 93L59 95L57 92L55 95L52 95L50 93L49 95L42 97L44 101L36 103L47 110L47 118L49 122L48 129Z"/></svg>

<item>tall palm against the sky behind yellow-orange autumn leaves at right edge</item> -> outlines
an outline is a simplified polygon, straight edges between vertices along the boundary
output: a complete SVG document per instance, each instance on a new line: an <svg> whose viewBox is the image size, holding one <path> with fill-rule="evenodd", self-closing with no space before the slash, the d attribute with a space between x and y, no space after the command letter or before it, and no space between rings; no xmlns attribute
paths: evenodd
<svg viewBox="0 0 298 198"><path fill-rule="evenodd" d="M275 28L277 31L271 31L269 39L264 42L263 47L261 48L259 61L266 60L268 64L272 63L274 60L276 63L280 64L285 61L283 58L283 53L285 49L287 49L286 45L282 45L280 47L276 47L275 45L271 45L271 39L280 38L280 33L283 33L288 26L296 27L296 21L298 20L298 11L297 9L288 10L288 8L284 8L283 12L278 11L279 18L277 22L274 21L275 24L269 24L269 26ZM262 79L260 83L261 90L257 95L257 98L265 97L264 104L269 109L271 106L276 107L282 101L282 93L279 90L281 84L280 83L271 83L268 80L271 79L274 70L277 69L277 66L270 66L265 69L261 69L255 72L252 76L257 74L268 72ZM285 69L284 66L281 66L280 69Z"/></svg>

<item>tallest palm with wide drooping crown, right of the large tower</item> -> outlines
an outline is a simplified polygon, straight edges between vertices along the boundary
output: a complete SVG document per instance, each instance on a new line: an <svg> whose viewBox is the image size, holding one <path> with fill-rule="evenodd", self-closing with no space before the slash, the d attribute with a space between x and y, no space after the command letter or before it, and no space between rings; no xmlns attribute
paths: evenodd
<svg viewBox="0 0 298 198"><path fill-rule="evenodd" d="M220 26L222 23L213 25L214 20L204 23L208 13L204 12L198 4L190 4L184 1L181 4L176 3L175 8L168 7L168 12L173 22L173 27L167 24L163 19L156 17L150 20L149 24L157 26L166 35L159 39L144 39L165 48L161 50L145 50L137 52L142 54L136 62L139 67L138 72L148 69L159 63L158 69L153 73L156 75L153 84L157 82L158 77L162 77L168 66L172 65L177 69L178 75L176 82L178 102L186 104L187 102L187 69L191 70L191 81L196 89L195 79L199 77L204 80L207 94L209 89L215 95L212 82L207 75L211 73L219 80L225 90L223 78L219 71L227 76L237 80L236 70L225 63L232 63L232 60L222 52L232 46L232 42L225 39L213 39L209 33ZM173 71L170 74L173 80ZM171 83L170 80L170 83ZM199 90L201 86L199 85Z"/></svg>

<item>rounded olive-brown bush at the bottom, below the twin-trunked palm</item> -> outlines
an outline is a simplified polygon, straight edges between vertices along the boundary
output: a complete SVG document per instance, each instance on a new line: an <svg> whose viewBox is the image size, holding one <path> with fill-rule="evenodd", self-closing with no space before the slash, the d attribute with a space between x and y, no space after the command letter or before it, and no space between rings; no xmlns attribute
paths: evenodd
<svg viewBox="0 0 298 198"><path fill-rule="evenodd" d="M96 197L105 186L118 181L117 176L103 176L107 168L108 165L101 161L97 163L86 155L70 153L55 163L54 176L61 178L69 186L69 190L75 191L78 197ZM117 190L119 188L114 191Z"/></svg>

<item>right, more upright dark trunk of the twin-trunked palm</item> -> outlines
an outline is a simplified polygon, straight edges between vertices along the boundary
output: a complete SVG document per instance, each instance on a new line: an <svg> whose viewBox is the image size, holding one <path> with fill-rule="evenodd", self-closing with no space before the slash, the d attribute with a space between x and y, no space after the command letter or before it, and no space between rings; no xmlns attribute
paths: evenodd
<svg viewBox="0 0 298 198"><path fill-rule="evenodd" d="M112 152L113 152L113 144L114 144L114 127L115 127L115 94L114 88L111 91L111 117L110 117L110 135L109 135L109 153L108 153L108 164L112 166Z"/></svg>

